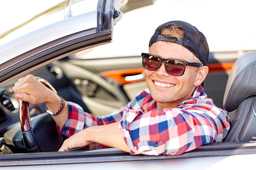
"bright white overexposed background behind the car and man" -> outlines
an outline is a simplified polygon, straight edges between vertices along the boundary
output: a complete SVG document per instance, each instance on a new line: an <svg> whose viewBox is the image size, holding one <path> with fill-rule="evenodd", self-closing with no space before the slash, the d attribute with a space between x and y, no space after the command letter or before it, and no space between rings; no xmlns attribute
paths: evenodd
<svg viewBox="0 0 256 170"><path fill-rule="evenodd" d="M62 0L0 0L0 33L19 25ZM133 56L147 52L155 29L170 20L184 20L207 38L210 51L255 50L254 0L156 0L154 5L123 15L111 44L94 48L87 56Z"/></svg>

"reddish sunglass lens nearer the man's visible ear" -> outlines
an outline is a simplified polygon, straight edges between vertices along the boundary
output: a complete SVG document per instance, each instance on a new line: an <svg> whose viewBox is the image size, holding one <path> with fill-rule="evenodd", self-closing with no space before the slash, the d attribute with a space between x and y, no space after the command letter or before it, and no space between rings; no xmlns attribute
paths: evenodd
<svg viewBox="0 0 256 170"><path fill-rule="evenodd" d="M166 69L171 75L174 75L174 76L182 75L184 68L185 68L185 64L183 62L176 61L176 60L166 61Z"/></svg>

